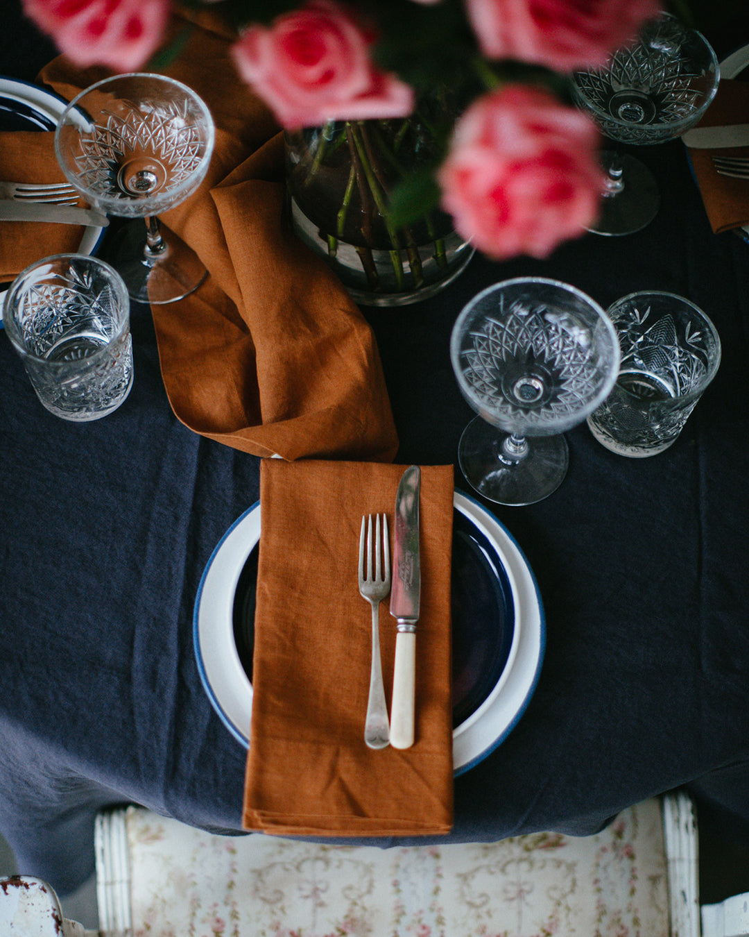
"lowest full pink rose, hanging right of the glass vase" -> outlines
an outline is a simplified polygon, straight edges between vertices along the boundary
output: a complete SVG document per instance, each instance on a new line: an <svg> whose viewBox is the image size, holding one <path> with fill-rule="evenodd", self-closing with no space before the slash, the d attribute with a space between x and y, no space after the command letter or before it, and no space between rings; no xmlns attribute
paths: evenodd
<svg viewBox="0 0 749 937"><path fill-rule="evenodd" d="M479 97L440 167L442 205L489 257L548 256L598 214L604 173L588 117L550 93L512 84Z"/></svg>

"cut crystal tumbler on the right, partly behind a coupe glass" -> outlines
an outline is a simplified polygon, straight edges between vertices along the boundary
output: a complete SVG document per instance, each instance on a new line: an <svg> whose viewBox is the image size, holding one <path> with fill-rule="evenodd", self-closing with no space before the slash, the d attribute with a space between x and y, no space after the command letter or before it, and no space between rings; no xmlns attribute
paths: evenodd
<svg viewBox="0 0 749 937"><path fill-rule="evenodd" d="M619 455L643 458L672 445L720 364L720 338L698 306L668 292L635 292L608 310L619 337L619 378L588 417Z"/></svg>

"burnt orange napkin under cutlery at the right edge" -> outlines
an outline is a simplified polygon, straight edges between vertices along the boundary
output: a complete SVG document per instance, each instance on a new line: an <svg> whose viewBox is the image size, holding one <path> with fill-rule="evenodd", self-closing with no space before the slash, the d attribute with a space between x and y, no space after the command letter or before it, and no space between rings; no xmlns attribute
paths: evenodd
<svg viewBox="0 0 749 937"><path fill-rule="evenodd" d="M746 123L749 123L749 83L723 79L698 126ZM712 156L749 156L749 146L688 149L712 231L718 234L749 224L749 181L720 175L712 163Z"/></svg>

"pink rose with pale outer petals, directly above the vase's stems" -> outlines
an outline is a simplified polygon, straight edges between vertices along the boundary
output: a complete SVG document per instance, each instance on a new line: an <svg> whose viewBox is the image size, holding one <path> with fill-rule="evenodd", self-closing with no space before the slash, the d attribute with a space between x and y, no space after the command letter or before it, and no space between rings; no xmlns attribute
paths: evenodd
<svg viewBox="0 0 749 937"><path fill-rule="evenodd" d="M373 42L343 7L312 0L270 27L250 26L233 53L242 78L283 126L404 116L413 109L412 89L374 66Z"/></svg>

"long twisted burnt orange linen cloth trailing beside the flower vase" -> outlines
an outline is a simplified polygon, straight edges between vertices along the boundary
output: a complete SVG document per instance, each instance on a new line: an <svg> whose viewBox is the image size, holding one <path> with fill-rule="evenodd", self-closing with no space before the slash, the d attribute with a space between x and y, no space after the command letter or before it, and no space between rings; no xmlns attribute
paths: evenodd
<svg viewBox="0 0 749 937"><path fill-rule="evenodd" d="M162 219L210 273L184 300L152 306L169 402L190 429L244 452L389 461L398 439L374 335L285 230L283 139L229 46L220 28L195 27L163 69L205 100L217 128L203 184ZM72 97L105 74L60 56L41 78Z"/></svg>

